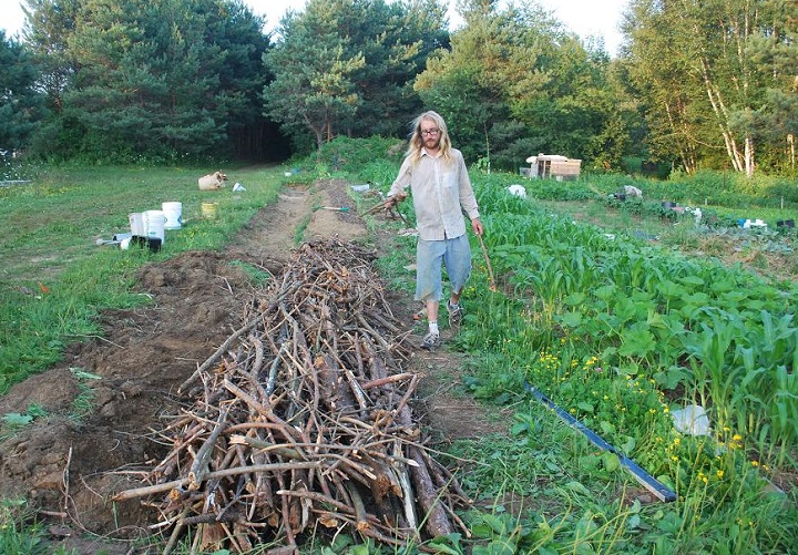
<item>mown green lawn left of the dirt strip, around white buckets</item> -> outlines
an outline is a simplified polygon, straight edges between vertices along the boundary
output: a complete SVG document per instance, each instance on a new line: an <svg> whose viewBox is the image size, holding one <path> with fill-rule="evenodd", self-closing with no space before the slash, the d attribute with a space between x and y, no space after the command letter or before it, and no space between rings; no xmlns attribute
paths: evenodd
<svg viewBox="0 0 798 555"><path fill-rule="evenodd" d="M207 168L51 168L24 185L0 188L0 393L57 362L69 342L100 333L110 308L147 302L134 290L150 260L221 248L284 184L283 168L225 168L227 187L202 192ZM241 183L246 191L234 193ZM130 233L129 214L181 202L183 227L163 249L98 246ZM202 203L217 203L215 219Z"/></svg>

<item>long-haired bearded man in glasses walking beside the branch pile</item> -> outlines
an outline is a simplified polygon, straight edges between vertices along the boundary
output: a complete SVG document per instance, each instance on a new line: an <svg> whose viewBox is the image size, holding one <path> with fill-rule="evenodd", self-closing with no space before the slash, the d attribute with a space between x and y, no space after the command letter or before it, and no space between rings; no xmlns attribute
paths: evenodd
<svg viewBox="0 0 798 555"><path fill-rule="evenodd" d="M451 285L447 302L449 325L462 320L460 294L471 274L471 248L463 212L471 228L482 235L477 198L462 153L452 148L446 122L436 112L424 112L412 122L408 152L399 175L388 192L386 208L407 197L410 187L419 239L416 251L416 300L427 306L429 332L421 347L440 345L438 311L443 298L442 265Z"/></svg>

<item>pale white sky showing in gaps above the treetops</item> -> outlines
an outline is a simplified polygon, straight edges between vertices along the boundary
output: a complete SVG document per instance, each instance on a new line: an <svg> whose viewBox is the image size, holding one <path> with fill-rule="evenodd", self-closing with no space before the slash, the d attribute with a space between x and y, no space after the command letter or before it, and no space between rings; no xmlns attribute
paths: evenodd
<svg viewBox="0 0 798 555"><path fill-rule="evenodd" d="M456 0L449 0L449 20L457 27L454 14ZM626 8L628 0L536 0L543 9L551 11L571 31L582 38L587 35L603 37L604 44L614 55L621 43L621 33L617 30L621 22L621 12ZM279 24L288 9L301 11L306 0L245 0L253 12L266 18L266 28L274 29ZM0 0L0 28L6 30L7 37L12 37L22 28L24 14L19 0Z"/></svg>

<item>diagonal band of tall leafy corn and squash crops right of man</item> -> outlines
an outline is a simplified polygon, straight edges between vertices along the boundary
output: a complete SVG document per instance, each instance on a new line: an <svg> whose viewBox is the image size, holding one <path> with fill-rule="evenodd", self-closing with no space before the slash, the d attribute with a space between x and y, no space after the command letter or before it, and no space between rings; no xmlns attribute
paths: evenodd
<svg viewBox="0 0 798 555"><path fill-rule="evenodd" d="M713 408L719 425L746 433L766 425L768 441L795 445L788 370L794 361L784 356L798 351L787 302L791 291L740 268L607 237L495 187L483 191L481 202L494 202L502 212L501 218L485 217L498 274L531 300L535 323L550 337L577 342L574 338L591 337L605 363L622 373L634 368L668 389L685 386ZM747 380L740 394L747 372L737 359L740 349L754 346L756 366L771 370ZM771 386L775 376L784 389ZM751 411L760 425L740 428Z"/></svg>

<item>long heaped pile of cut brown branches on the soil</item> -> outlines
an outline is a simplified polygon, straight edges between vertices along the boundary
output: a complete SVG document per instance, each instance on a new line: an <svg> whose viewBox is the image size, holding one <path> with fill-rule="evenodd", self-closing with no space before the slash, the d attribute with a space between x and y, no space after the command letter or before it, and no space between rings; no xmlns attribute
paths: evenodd
<svg viewBox="0 0 798 555"><path fill-rule="evenodd" d="M114 497L160 511L166 553L190 526L200 549L273 541L275 553L320 530L392 545L468 533L454 513L466 495L409 405L419 376L402 371L408 332L372 259L335 239L303 245L181 386L191 405L158 432L171 451L151 485Z"/></svg>

